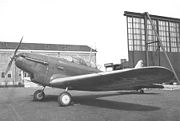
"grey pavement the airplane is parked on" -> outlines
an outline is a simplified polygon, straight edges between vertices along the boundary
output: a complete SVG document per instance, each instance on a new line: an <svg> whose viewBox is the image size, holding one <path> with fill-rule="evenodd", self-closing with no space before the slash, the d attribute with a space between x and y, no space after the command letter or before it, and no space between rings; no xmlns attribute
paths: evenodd
<svg viewBox="0 0 180 121"><path fill-rule="evenodd" d="M46 88L42 102L37 88L0 88L0 121L179 121L180 90L70 91L73 104L59 107L63 90Z"/></svg>

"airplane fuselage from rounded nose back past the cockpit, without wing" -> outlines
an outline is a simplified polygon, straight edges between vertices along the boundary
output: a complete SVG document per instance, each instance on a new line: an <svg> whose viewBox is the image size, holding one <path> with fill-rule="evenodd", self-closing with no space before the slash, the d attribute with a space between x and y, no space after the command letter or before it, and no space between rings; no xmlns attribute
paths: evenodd
<svg viewBox="0 0 180 121"><path fill-rule="evenodd" d="M54 78L64 78L101 72L97 68L80 65L68 60L34 53L16 55L15 64L31 75L31 81L43 86L52 86Z"/></svg>

